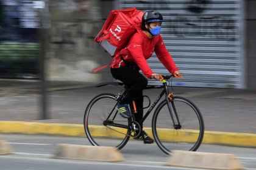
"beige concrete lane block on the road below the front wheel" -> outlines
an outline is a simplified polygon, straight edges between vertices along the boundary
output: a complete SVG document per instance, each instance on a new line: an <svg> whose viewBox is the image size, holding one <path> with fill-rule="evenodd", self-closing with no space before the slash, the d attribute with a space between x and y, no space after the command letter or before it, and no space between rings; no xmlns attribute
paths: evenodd
<svg viewBox="0 0 256 170"><path fill-rule="evenodd" d="M166 165L202 169L243 169L243 165L233 154L191 151L172 151Z"/></svg>

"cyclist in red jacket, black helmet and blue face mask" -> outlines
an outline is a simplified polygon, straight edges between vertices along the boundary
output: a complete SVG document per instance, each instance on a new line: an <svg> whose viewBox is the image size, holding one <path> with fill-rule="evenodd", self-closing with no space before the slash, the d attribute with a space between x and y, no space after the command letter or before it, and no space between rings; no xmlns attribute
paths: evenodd
<svg viewBox="0 0 256 170"><path fill-rule="evenodd" d="M162 36L159 35L162 22L163 16L159 12L154 10L145 12L141 22L141 30L132 35L127 47L113 58L110 66L113 78L122 81L128 87L126 96L116 107L121 116L131 117L129 103L134 100L137 107L137 113L134 114L134 117L137 122L143 118L143 89L148 85L148 80L145 77L160 80L160 74L152 72L146 62L152 53L155 52L170 73L177 76L182 74L166 49ZM143 124L140 126L142 128ZM141 134L135 139L143 140L144 143L154 143L154 140L144 131L141 131Z"/></svg>

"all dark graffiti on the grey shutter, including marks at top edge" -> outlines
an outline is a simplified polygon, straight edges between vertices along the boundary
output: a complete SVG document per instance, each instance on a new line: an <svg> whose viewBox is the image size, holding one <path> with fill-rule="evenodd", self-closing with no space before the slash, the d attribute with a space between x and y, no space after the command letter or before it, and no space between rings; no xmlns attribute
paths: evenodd
<svg viewBox="0 0 256 170"><path fill-rule="evenodd" d="M140 1L146 9L172 9L170 1ZM182 3L182 2L181 2ZM163 8L163 5L165 7ZM211 0L187 0L183 2L180 13L164 16L166 32L183 38L210 38L235 41L238 32L234 16L225 13L212 13L215 9Z"/></svg>

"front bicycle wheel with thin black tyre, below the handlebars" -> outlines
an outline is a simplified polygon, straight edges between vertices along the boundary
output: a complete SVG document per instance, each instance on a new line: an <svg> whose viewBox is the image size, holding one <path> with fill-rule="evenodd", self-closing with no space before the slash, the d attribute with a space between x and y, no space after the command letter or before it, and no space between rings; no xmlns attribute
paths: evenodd
<svg viewBox="0 0 256 170"><path fill-rule="evenodd" d="M170 154L171 150L196 151L204 137L204 120L201 112L190 100L173 97L155 109L152 118L152 132L158 147ZM172 121L171 114L174 122Z"/></svg>

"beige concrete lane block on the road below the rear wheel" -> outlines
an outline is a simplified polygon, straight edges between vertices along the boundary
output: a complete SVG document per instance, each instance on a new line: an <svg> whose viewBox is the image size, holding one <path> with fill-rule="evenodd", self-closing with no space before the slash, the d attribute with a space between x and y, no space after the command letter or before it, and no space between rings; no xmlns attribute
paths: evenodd
<svg viewBox="0 0 256 170"><path fill-rule="evenodd" d="M55 158L123 161L124 157L118 149L107 146L85 146L79 144L57 144Z"/></svg>

